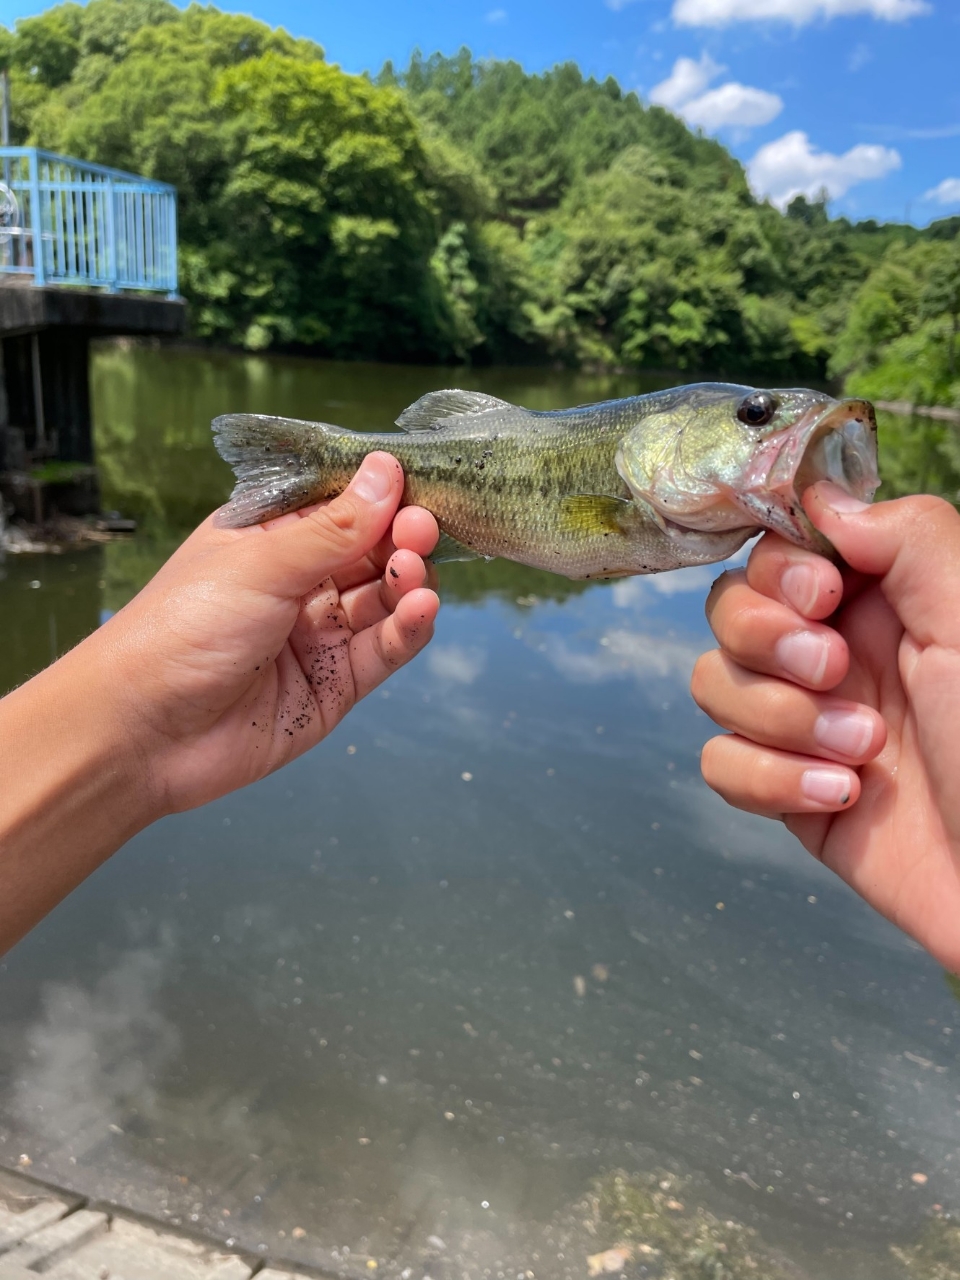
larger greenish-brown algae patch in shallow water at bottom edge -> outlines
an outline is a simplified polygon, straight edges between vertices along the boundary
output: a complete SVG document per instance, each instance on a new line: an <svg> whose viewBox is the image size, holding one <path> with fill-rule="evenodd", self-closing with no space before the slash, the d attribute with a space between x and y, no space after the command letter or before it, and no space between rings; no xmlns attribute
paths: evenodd
<svg viewBox="0 0 960 1280"><path fill-rule="evenodd" d="M598 1240L616 1240L617 1244L588 1258L589 1274L614 1270L605 1260L613 1262L616 1254L622 1257L616 1270L627 1275L655 1258L660 1280L788 1280L795 1276L795 1271L763 1244L756 1231L742 1222L718 1219L700 1206L685 1210L678 1198L682 1192L687 1192L685 1199L690 1203L687 1180L672 1174L617 1170L598 1179L585 1204L586 1226ZM946 1272L943 1280L947 1280ZM952 1274L950 1280L954 1280Z"/></svg>

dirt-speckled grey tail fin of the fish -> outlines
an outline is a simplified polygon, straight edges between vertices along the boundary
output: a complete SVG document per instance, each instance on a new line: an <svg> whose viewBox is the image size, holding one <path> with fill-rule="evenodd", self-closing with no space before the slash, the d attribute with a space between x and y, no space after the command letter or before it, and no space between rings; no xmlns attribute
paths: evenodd
<svg viewBox="0 0 960 1280"><path fill-rule="evenodd" d="M307 458L316 457L319 436L342 434L326 422L265 413L224 413L214 419L212 431L237 477L230 500L216 513L224 529L257 525L317 500L316 468Z"/></svg>

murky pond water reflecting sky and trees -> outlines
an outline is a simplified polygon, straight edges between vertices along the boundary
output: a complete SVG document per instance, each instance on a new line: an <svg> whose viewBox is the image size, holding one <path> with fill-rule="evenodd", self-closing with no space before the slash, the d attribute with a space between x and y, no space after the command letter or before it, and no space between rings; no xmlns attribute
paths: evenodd
<svg viewBox="0 0 960 1280"><path fill-rule="evenodd" d="M538 408L652 385L101 348L106 503L142 532L5 561L0 685L223 500L211 416L383 429L451 383ZM881 448L883 493L956 497L952 429L887 419ZM580 1277L625 1239L630 1275L933 1275L891 1245L960 1208L957 1002L701 783L714 573L444 567L428 653L0 965L0 1164L344 1275ZM623 1175L662 1184L639 1228L604 1217ZM726 1252L681 1265L678 1224Z"/></svg>

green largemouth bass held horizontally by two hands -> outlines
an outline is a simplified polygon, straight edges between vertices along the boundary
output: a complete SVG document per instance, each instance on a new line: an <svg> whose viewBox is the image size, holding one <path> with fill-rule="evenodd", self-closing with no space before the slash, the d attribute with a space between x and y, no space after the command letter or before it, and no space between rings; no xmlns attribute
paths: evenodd
<svg viewBox="0 0 960 1280"><path fill-rule="evenodd" d="M829 554L804 490L832 480L870 502L879 485L872 404L806 388L695 383L547 412L451 389L422 396L396 425L216 417L237 477L218 524L333 498L385 449L403 467L403 504L436 517L434 561L506 557L607 579L716 563L764 529Z"/></svg>

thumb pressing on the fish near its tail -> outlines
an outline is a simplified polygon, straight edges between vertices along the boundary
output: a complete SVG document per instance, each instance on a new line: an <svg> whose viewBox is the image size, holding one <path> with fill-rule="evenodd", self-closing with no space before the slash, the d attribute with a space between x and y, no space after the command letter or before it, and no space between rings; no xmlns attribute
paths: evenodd
<svg viewBox="0 0 960 1280"><path fill-rule="evenodd" d="M278 595L305 595L361 559L380 541L403 495L403 468L389 453L369 453L344 492L323 507L282 517L251 538L253 572Z"/></svg>

